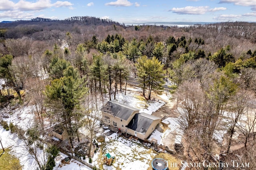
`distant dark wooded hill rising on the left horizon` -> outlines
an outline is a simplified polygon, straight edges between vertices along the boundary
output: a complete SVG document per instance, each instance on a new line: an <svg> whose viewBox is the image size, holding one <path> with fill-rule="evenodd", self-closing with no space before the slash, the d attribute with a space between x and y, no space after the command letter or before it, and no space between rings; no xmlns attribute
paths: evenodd
<svg viewBox="0 0 256 170"><path fill-rule="evenodd" d="M64 20L52 20L49 18L33 18L31 20L17 20L10 23L0 23L0 38L22 38L24 36L36 38L44 37L44 30L52 31L51 34L61 34L60 32L71 32L75 31L80 33L79 27L84 26L121 26L124 27L123 24L118 22L114 22L110 19L100 19L91 16L77 16L66 18ZM40 33L41 32L41 33ZM35 34L33 36L33 34ZM46 36L47 37L47 36ZM53 36L56 38L56 36ZM38 38L36 38L38 39Z"/></svg>

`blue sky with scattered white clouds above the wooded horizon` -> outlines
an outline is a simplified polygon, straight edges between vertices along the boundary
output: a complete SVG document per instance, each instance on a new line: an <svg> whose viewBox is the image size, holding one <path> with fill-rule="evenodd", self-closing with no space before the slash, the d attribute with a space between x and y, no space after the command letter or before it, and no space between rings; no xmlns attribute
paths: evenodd
<svg viewBox="0 0 256 170"><path fill-rule="evenodd" d="M117 22L256 22L256 0L0 0L0 21L95 16Z"/></svg>

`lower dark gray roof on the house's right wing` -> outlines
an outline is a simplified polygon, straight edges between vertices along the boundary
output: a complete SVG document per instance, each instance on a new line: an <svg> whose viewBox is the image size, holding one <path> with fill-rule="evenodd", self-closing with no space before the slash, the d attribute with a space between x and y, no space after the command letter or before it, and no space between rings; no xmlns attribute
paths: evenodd
<svg viewBox="0 0 256 170"><path fill-rule="evenodd" d="M160 119L159 117L146 113L136 113L126 127L143 134L146 133L153 121Z"/></svg>

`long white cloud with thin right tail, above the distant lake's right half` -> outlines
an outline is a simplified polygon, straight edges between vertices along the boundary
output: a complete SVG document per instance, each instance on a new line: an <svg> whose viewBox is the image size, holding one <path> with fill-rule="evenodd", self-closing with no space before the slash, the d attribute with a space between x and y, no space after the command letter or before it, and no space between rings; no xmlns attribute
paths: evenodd
<svg viewBox="0 0 256 170"><path fill-rule="evenodd" d="M211 8L209 6L186 6L184 8L172 8L172 11L176 14L193 14L193 15L201 15L205 14L206 12L216 12L220 10L226 10L227 8L219 7L219 8Z"/></svg>

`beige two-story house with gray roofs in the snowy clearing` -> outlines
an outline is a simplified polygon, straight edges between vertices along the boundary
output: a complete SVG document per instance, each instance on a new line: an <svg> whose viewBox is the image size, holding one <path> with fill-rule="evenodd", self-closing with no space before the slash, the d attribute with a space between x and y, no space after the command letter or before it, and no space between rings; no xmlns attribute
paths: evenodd
<svg viewBox="0 0 256 170"><path fill-rule="evenodd" d="M142 140L148 138L160 122L159 117L139 113L139 109L115 101L108 101L100 110L102 123L111 130L121 130Z"/></svg>

